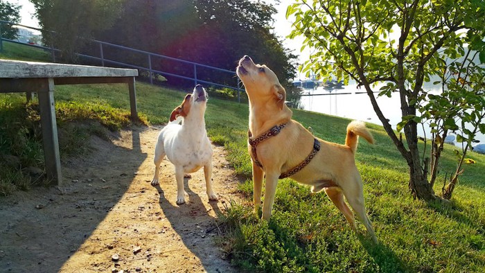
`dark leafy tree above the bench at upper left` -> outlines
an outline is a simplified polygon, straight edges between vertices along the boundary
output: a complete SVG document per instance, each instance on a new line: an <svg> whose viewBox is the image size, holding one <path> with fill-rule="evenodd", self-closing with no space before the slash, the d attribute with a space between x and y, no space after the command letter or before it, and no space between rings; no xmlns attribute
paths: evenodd
<svg viewBox="0 0 485 273"><path fill-rule="evenodd" d="M96 33L110 28L125 0L30 0L42 28L44 44L61 50L61 58L77 62L76 53Z"/></svg>

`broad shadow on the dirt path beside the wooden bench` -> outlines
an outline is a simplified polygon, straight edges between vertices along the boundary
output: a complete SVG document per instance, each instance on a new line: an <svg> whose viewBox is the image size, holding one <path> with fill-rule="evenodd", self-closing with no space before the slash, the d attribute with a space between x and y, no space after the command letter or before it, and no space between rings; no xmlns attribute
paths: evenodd
<svg viewBox="0 0 485 273"><path fill-rule="evenodd" d="M0 197L0 272L58 272L118 204L147 155L94 136L94 152L62 161L63 184ZM87 268L79 268L87 270Z"/></svg>

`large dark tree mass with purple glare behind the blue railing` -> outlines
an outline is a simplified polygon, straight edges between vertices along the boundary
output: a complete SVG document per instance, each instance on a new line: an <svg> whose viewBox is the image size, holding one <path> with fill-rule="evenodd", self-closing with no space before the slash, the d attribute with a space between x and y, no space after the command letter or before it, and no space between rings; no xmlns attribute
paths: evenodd
<svg viewBox="0 0 485 273"><path fill-rule="evenodd" d="M113 28L96 35L97 39L231 71L237 60L247 54L274 67L282 82L289 83L294 76L296 55L284 49L272 33L270 23L276 10L263 2L139 0L126 1L121 9ZM144 66L147 63L139 55L119 54L113 58L143 62ZM162 58L152 58L152 68L193 76L191 65ZM166 78L170 85L193 85L191 80ZM197 78L227 85L236 83L227 73L204 68L197 69Z"/></svg>

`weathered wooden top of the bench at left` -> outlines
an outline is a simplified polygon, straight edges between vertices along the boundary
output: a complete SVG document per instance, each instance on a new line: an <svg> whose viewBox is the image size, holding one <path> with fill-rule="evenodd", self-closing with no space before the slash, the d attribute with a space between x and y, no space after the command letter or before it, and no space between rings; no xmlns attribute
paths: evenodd
<svg viewBox="0 0 485 273"><path fill-rule="evenodd" d="M0 78L134 77L136 69L0 60Z"/></svg>

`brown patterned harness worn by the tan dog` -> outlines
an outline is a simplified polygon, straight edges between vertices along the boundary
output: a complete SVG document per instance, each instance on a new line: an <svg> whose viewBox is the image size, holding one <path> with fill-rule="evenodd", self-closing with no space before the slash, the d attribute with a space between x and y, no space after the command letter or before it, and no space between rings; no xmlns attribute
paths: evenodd
<svg viewBox="0 0 485 273"><path fill-rule="evenodd" d="M248 135L247 141L251 146L251 158L259 168L263 168L263 164L261 164L261 162L258 161L256 146L258 146L259 143L265 141L266 139L269 139L271 136L276 136L276 134L279 134L279 132L281 131L281 129L283 129L283 127L285 127L285 125L286 123L282 123L280 125L274 125L274 127L272 127L269 131L265 132L264 134L261 134L261 136L258 136L255 139L251 139L252 137L251 131L249 130L247 131L247 135ZM288 172L286 173L282 173L279 176L279 179L290 177L295 173L298 173L299 170L301 170L302 168L305 168L305 166L307 166L310 163L310 161L312 161L313 157L315 157L315 155L319 150L320 150L320 143L318 142L317 139L315 139L315 141L313 141L313 150L312 152L310 152L310 155L308 155L308 157L306 157L306 159L303 160L303 162L301 162L298 166L292 168L291 170L288 170Z"/></svg>

